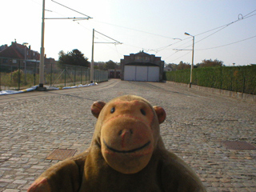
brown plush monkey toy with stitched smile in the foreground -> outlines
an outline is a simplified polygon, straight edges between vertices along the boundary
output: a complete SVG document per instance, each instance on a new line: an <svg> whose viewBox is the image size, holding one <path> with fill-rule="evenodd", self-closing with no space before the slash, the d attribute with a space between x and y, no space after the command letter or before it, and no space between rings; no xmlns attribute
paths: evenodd
<svg viewBox="0 0 256 192"><path fill-rule="evenodd" d="M125 95L94 102L98 121L90 148L46 170L29 192L206 191L182 159L166 150L159 124L166 112Z"/></svg>

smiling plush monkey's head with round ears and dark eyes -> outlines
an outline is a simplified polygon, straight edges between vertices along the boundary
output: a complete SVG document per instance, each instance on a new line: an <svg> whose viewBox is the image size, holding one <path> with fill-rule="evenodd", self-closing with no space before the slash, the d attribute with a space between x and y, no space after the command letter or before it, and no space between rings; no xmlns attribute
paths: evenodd
<svg viewBox="0 0 256 192"><path fill-rule="evenodd" d="M158 146L159 124L166 112L144 98L124 95L108 103L94 102L91 112L98 118L93 142L114 170L135 174L142 170Z"/></svg>

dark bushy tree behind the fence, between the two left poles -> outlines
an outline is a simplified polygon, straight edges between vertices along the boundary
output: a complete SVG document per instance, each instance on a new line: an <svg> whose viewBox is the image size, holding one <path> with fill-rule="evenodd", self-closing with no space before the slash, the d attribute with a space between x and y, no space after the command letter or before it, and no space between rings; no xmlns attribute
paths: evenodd
<svg viewBox="0 0 256 192"><path fill-rule="evenodd" d="M58 63L72 66L90 66L88 58L85 58L84 54L82 54L82 52L77 49L72 50L67 54L63 50L61 50L58 53Z"/></svg>

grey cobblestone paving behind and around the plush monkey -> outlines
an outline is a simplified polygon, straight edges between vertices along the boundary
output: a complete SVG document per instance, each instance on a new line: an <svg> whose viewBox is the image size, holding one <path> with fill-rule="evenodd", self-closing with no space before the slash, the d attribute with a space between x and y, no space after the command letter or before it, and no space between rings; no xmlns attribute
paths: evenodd
<svg viewBox="0 0 256 192"><path fill-rule="evenodd" d="M161 134L208 191L256 191L256 150L228 150L224 141L256 144L256 105L170 83L120 82L99 86L0 96L0 191L23 192L46 168L56 148L90 146L96 119L90 105L136 94L163 106ZM13 99L14 98L14 99Z"/></svg>

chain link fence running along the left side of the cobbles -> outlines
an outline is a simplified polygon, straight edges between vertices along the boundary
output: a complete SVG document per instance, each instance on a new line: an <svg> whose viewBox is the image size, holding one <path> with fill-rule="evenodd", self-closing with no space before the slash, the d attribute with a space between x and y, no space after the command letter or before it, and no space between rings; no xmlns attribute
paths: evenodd
<svg viewBox="0 0 256 192"><path fill-rule="evenodd" d="M84 66L45 64L45 86L75 86L90 83ZM108 71L94 70L94 82L108 81ZM39 84L39 61L0 58L0 90L23 90Z"/></svg>

